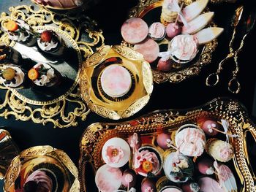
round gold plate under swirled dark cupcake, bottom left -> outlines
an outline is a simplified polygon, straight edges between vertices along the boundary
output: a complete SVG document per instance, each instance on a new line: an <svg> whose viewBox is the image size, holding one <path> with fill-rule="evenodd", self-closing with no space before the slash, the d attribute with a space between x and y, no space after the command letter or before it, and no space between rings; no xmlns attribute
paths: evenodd
<svg viewBox="0 0 256 192"><path fill-rule="evenodd" d="M78 169L69 156L62 150L45 145L23 150L12 160L5 176L4 191L12 192L15 186L23 186L29 174L36 170L49 170L56 176L58 185L55 185L53 191L80 190Z"/></svg>

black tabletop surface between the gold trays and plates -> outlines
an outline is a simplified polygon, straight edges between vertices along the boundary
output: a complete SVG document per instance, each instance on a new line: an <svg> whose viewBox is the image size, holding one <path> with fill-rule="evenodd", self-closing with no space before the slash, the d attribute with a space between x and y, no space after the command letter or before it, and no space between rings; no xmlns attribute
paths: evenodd
<svg viewBox="0 0 256 192"><path fill-rule="evenodd" d="M220 75L220 82L216 87L207 87L205 83L208 74L217 70L219 61L221 61L228 53L227 45L231 35L230 20L233 16L234 10L238 7L238 4L241 3L252 3L252 0L237 1L236 4L209 4L211 11L215 12L215 23L217 23L219 27L225 28L223 34L218 38L219 45L213 54L211 64L204 66L197 77L190 77L178 84L172 84L169 82L160 85L154 84L154 91L151 95L150 101L143 110L138 112L132 118L137 118L140 115L144 115L153 110L196 107L197 105L204 104L216 97L225 96L241 101L241 103L247 108L249 116L255 121L255 28L247 36L244 50L240 53L238 59L240 64L240 72L238 74L238 80L241 82L240 93L233 94L227 90L227 82L231 79L232 71L235 68L235 64L232 59L225 65L224 70ZM18 4L31 4L31 1L23 0L20 2L18 0L0 0L0 12L8 12L8 7L16 6ZM120 44L121 24L126 20L128 10L136 4L137 1L135 0L105 0L89 9L88 15L97 20L99 27L103 30L106 45ZM252 6L255 6L255 4L249 5L249 7ZM0 98L2 99L3 96ZM253 107L254 105L255 109ZM80 155L80 136L87 126L95 122L113 122L113 120L101 118L99 115L91 112L86 121L80 121L77 127L60 129L53 128L53 124L51 123L46 126L42 126L41 124L35 124L31 121L17 121L13 117L8 118L7 120L0 118L0 126L7 127L7 130L10 131L12 138L20 147L20 150L36 145L51 145L64 150L76 165L78 165L78 158ZM252 150L252 147L253 146L250 145L249 150ZM253 156L253 158L255 158L255 156Z"/></svg>

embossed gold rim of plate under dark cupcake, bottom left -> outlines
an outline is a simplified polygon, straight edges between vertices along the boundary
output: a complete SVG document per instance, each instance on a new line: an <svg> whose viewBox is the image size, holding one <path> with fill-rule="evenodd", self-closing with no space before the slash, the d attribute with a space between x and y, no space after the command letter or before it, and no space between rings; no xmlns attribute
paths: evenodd
<svg viewBox="0 0 256 192"><path fill-rule="evenodd" d="M20 155L12 160L10 167L7 169L4 181L4 191L12 191L12 187L20 174L20 168L23 162L31 159L39 158L42 156L48 156L54 158L56 161L63 166L65 174L72 174L75 177L73 183L69 183L70 192L78 192L80 190L80 183L78 180L78 169L75 164L71 161L69 156L62 150L54 149L48 145L31 147L27 150L20 152Z"/></svg>

